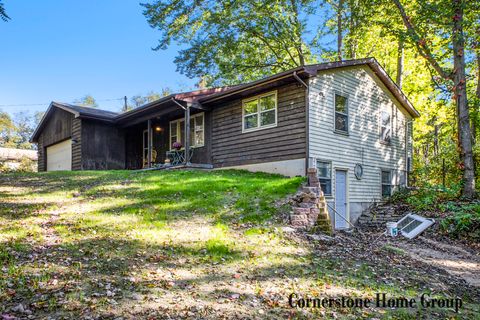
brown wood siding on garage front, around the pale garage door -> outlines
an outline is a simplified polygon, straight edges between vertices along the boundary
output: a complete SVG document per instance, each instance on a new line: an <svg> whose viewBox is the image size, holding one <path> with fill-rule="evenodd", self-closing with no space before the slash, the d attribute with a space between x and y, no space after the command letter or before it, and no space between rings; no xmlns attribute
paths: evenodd
<svg viewBox="0 0 480 320"><path fill-rule="evenodd" d="M74 116L70 112L56 108L47 120L38 137L38 171L47 170L46 148L71 138L73 119Z"/></svg>

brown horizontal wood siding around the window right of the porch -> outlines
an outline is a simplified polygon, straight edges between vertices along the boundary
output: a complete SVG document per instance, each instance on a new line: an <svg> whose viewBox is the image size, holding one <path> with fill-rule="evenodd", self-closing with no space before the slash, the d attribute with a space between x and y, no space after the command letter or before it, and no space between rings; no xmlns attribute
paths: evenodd
<svg viewBox="0 0 480 320"><path fill-rule="evenodd" d="M305 88L296 84L279 87L277 99L277 126L253 132L242 133L242 99L213 110L215 167L305 158Z"/></svg>

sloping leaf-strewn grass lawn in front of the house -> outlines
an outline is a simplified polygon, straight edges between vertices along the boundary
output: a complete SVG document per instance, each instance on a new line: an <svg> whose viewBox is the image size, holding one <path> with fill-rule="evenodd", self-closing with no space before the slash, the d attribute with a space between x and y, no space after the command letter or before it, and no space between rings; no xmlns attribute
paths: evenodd
<svg viewBox="0 0 480 320"><path fill-rule="evenodd" d="M308 241L283 229L285 199L302 181L234 170L3 175L0 319L478 315L478 290L400 249L355 235ZM288 301L291 293L377 292L460 296L463 308L302 309Z"/></svg>

